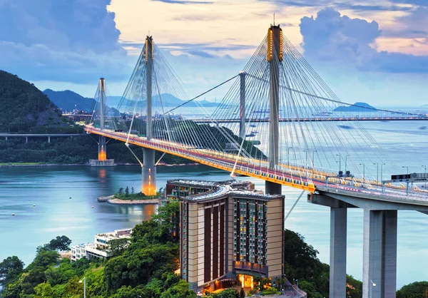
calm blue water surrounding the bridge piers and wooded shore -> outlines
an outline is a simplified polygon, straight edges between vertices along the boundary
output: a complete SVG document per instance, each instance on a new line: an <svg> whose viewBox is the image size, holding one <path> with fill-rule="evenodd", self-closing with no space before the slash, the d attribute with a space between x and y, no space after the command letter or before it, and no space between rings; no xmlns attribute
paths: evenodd
<svg viewBox="0 0 428 298"><path fill-rule="evenodd" d="M428 163L427 130L422 122L369 123L365 127L400 165L421 171ZM205 166L159 167L158 187L174 178L227 180L228 173ZM253 180L263 189L264 183ZM148 220L156 207L119 206L99 203L119 187L140 188L141 168L118 166L96 169L76 167L0 168L0 260L17 255L29 264L36 247L58 235L67 235L73 245L92 242L93 235ZM300 194L284 189L286 210ZM70 199L71 197L71 199ZM33 207L36 205L36 207ZM93 208L92 208L93 206ZM12 217L11 214L15 213ZM348 211L347 272L362 278L362 210ZM302 197L285 225L299 232L329 261L330 212ZM428 216L400 211L398 219L397 286L428 279Z"/></svg>

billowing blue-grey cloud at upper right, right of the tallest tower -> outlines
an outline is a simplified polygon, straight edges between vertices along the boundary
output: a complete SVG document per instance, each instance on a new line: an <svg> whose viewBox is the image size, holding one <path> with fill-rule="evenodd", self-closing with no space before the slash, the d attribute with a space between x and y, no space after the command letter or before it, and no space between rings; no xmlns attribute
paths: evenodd
<svg viewBox="0 0 428 298"><path fill-rule="evenodd" d="M335 9L322 9L317 17L300 22L305 56L320 62L335 61L361 71L428 73L428 56L378 52L370 46L382 36L376 21L350 19Z"/></svg>

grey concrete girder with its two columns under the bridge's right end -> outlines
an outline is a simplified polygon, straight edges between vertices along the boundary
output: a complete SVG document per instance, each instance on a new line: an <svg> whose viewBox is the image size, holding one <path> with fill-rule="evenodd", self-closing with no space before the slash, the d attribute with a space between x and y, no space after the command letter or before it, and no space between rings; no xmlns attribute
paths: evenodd
<svg viewBox="0 0 428 298"><path fill-rule="evenodd" d="M364 210L362 297L394 298L397 210L416 210L428 215L428 206L370 200L335 192L308 195L307 200L330 207L330 297L346 297L347 208L360 207Z"/></svg>

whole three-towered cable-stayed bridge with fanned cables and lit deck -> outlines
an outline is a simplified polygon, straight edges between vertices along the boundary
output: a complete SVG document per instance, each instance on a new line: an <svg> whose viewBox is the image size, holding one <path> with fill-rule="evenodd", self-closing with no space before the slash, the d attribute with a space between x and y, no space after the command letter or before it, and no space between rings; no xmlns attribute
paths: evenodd
<svg viewBox="0 0 428 298"><path fill-rule="evenodd" d="M232 177L265 180L266 193L281 193L282 185L309 192L308 201L331 208L330 297L345 297L347 208L361 207L364 297L370 291L372 297L395 297L397 210L428 212L427 189L415 184L427 174L384 179L404 167L355 115L345 109L342 118L317 118L350 105L335 96L280 26L270 26L243 71L215 88L227 83L212 111L195 99L214 88L177 105L176 98L188 98L183 84L148 36L116 109L108 108L100 81L98 108L85 128L100 136L98 159L106 160L106 138L123 141L131 152L142 147L146 195L156 194L155 151Z"/></svg>

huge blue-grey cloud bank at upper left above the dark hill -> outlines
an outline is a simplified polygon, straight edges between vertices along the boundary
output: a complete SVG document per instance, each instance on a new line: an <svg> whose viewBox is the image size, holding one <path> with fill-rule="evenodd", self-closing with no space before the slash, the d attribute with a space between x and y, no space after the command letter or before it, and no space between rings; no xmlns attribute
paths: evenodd
<svg viewBox="0 0 428 298"><path fill-rule="evenodd" d="M126 51L110 0L0 1L0 66L27 80L119 78ZM6 29L7 28L7 29Z"/></svg>

